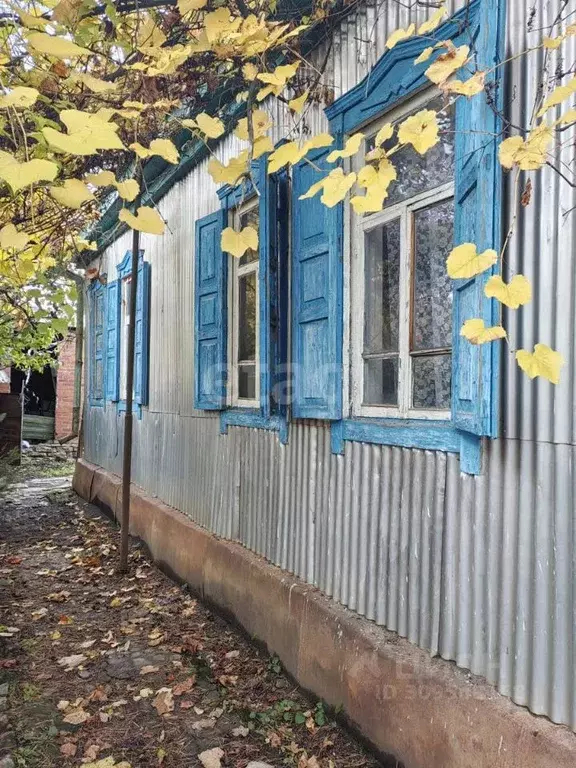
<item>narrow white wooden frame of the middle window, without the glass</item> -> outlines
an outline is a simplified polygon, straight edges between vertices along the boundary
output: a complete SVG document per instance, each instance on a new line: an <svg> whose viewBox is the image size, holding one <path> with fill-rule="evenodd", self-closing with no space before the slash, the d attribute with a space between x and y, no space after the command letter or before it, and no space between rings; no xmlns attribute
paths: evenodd
<svg viewBox="0 0 576 768"><path fill-rule="evenodd" d="M253 197L247 202L234 208L229 215L230 226L235 230L240 230L241 217L253 208L258 208L259 198ZM240 264L240 259L229 255L228 264L228 306L230 307L228 316L228 349L230 357L228 360L228 405L234 408L259 408L260 407L260 258L258 257L250 264ZM255 393L256 397L245 398L238 394L238 374L242 361L238 360L239 347L239 282L240 278L246 275L254 274L256 276L256 356L255 356ZM248 361L247 361L248 362Z"/></svg>

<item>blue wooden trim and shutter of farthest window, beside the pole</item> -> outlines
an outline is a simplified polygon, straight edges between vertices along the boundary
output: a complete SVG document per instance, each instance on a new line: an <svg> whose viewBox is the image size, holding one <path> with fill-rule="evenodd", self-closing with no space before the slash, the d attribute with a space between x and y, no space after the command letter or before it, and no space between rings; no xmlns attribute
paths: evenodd
<svg viewBox="0 0 576 768"><path fill-rule="evenodd" d="M118 413L126 412L126 400L120 399L120 335L122 323L122 281L132 275L132 251L126 251L124 258L116 267L118 276L116 325L117 367L116 367L116 402ZM150 264L144 261L144 251L138 254L138 295L136 297L136 338L134 348L134 398L132 413L142 418L142 406L148 405L149 345L150 345ZM112 334L111 334L112 335ZM111 398L112 399L112 398Z"/></svg>

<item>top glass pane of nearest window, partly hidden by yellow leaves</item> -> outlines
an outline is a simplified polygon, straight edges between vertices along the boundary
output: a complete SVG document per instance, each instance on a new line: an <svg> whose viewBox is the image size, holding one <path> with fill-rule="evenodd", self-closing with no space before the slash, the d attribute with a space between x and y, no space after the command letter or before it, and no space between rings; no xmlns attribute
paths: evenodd
<svg viewBox="0 0 576 768"><path fill-rule="evenodd" d="M441 97L432 99L424 109L443 109ZM420 111L420 110L418 110ZM402 120L404 120L403 118ZM402 122L402 120L400 122ZM454 178L454 110L445 109L438 115L440 141L436 146L421 155L411 145L406 145L392 155L391 160L396 167L397 179L388 188L386 206L407 200L414 195L427 192L452 181ZM396 134L384 144L385 149L391 149L397 143ZM371 137L366 148L369 151L374 146Z"/></svg>

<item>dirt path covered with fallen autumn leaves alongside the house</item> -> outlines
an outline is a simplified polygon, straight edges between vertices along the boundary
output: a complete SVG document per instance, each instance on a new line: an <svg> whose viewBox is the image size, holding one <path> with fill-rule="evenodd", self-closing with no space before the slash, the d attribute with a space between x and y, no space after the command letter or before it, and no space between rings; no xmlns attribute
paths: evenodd
<svg viewBox="0 0 576 768"><path fill-rule="evenodd" d="M0 768L379 765L63 485L0 501Z"/></svg>

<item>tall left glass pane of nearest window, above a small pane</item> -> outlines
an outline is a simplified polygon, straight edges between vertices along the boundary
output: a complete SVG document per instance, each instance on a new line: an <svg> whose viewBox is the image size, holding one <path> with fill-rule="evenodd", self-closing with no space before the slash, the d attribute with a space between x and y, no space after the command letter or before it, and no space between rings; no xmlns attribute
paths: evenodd
<svg viewBox="0 0 576 768"><path fill-rule="evenodd" d="M370 230L364 247L364 354L398 351L400 219Z"/></svg>

